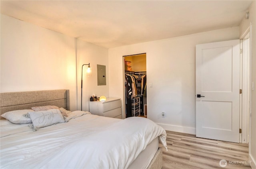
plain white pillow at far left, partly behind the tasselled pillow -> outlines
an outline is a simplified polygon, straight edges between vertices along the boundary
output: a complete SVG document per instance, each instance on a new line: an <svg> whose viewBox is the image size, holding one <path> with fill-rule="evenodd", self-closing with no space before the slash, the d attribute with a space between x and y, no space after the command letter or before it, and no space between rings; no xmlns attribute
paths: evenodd
<svg viewBox="0 0 256 169"><path fill-rule="evenodd" d="M24 117L23 114L26 114L28 112L33 112L33 111L34 110L31 110L31 109L13 110L13 111L4 113L1 116L15 124L26 124L26 123L32 123L32 121L30 118Z"/></svg>

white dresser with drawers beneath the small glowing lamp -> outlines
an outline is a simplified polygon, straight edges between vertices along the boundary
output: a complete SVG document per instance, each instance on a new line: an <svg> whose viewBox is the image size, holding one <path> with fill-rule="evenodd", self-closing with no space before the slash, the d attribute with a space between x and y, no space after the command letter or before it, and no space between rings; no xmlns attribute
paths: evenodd
<svg viewBox="0 0 256 169"><path fill-rule="evenodd" d="M121 119L121 99L107 98L106 101L89 102L89 112L99 116Z"/></svg>

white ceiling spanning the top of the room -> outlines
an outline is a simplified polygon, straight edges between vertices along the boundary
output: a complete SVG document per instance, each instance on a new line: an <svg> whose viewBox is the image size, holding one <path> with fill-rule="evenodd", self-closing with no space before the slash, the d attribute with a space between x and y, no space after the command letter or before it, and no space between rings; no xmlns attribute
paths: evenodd
<svg viewBox="0 0 256 169"><path fill-rule="evenodd" d="M111 48L239 26L247 0L1 0L1 13Z"/></svg>

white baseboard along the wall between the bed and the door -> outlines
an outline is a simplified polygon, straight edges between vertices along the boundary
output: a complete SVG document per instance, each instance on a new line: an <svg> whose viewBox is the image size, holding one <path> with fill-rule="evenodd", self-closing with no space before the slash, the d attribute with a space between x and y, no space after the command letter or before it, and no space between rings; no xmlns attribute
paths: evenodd
<svg viewBox="0 0 256 169"><path fill-rule="evenodd" d="M180 133L188 133L188 134L196 134L196 128L192 127L184 127L184 126L174 126L170 124L160 124L157 123L159 126L164 128L164 130L173 131L173 132L180 132Z"/></svg>

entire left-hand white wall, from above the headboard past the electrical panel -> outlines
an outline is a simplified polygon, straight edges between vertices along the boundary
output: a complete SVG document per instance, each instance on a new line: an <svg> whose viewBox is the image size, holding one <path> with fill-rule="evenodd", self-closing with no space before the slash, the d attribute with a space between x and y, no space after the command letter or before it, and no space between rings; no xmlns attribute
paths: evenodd
<svg viewBox="0 0 256 169"><path fill-rule="evenodd" d="M69 89L71 110L80 110L82 65L90 62L83 110L92 94L109 96L106 48L2 14L0 45L0 92ZM106 65L106 86L97 86L97 64Z"/></svg>

